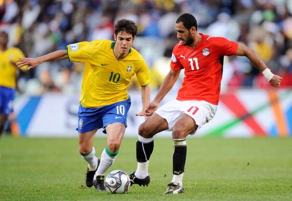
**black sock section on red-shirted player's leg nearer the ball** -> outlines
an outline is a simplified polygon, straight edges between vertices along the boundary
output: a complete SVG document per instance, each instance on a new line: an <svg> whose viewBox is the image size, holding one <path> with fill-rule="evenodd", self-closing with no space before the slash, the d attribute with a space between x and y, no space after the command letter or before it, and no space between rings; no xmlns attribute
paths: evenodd
<svg viewBox="0 0 292 201"><path fill-rule="evenodd" d="M142 143L137 141L136 143L136 159L139 163L144 163L149 160L154 147L154 141L149 143Z"/></svg>

